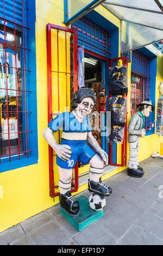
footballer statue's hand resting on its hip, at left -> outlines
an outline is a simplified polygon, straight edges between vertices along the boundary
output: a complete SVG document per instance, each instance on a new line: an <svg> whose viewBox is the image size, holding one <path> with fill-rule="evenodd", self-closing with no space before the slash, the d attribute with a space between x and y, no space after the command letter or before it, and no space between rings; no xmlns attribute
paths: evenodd
<svg viewBox="0 0 163 256"><path fill-rule="evenodd" d="M62 160L67 161L70 159L72 151L68 145L57 144L53 149Z"/></svg>

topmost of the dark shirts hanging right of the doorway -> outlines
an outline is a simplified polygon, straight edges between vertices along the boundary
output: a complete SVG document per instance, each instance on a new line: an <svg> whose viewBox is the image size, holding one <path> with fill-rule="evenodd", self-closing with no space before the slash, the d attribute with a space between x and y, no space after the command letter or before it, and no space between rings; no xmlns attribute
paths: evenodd
<svg viewBox="0 0 163 256"><path fill-rule="evenodd" d="M109 86L112 95L128 94L127 66L121 66L121 68L114 66L109 69Z"/></svg>

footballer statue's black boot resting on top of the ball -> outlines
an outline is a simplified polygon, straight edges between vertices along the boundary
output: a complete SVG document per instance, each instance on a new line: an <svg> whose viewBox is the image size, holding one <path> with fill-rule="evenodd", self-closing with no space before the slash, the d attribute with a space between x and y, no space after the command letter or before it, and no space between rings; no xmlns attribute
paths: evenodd
<svg viewBox="0 0 163 256"><path fill-rule="evenodd" d="M101 178L99 179L99 182L95 182L89 179L88 190L103 197L108 197L112 193L111 187L108 187L108 185L104 184Z"/></svg>

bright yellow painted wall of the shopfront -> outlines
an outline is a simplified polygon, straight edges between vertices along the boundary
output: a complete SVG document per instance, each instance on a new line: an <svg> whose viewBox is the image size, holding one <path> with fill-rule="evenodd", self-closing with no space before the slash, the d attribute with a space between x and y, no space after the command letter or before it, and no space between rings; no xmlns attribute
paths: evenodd
<svg viewBox="0 0 163 256"><path fill-rule="evenodd" d="M120 20L113 14L109 13L102 5L96 8L101 15L110 20L117 27L120 27ZM46 25L53 23L59 26L65 26L64 23L64 0L36 0L36 67L37 67L37 126L38 126L38 147L39 159L37 164L10 170L1 173L1 186L0 194L0 232L20 223L27 218L38 214L39 212L50 208L54 205L53 199L49 197L49 175L48 175L48 145L42 136L43 130L47 127L47 52L46 52ZM121 33L120 33L121 34ZM55 39L55 36L54 36ZM55 41L52 45L53 57L55 48ZM64 46L62 46L64 51ZM54 60L55 69L56 60ZM60 63L64 63L64 54L60 52ZM160 84L161 59L158 58L158 73L156 81L156 99L159 97L158 86ZM61 68L64 68L62 65ZM128 65L130 74L130 64ZM65 82L65 78L61 77L60 81ZM55 84L56 78L53 78ZM62 86L62 84L61 84ZM128 77L128 123L130 113L130 76ZM53 96L57 94L53 90ZM65 99L64 89L61 90L63 100ZM53 103L53 111L57 108L57 99ZM62 102L63 103L63 102ZM70 104L70 102L69 102ZM64 109L61 109L64 111ZM139 160L143 160L150 156L153 152L153 147L156 141L155 135L140 139L141 148ZM145 144L146 142L146 144ZM151 143L153 147L151 146ZM150 145L150 147L149 147ZM151 151L149 151L149 148ZM129 155L129 147L128 147ZM107 179L118 172L121 172L125 167L120 167L109 174L103 175L103 179ZM84 171L89 167L83 168ZM58 175L57 172L55 175ZM79 187L79 192L85 190L87 184ZM58 198L55 198L55 204L58 203Z"/></svg>

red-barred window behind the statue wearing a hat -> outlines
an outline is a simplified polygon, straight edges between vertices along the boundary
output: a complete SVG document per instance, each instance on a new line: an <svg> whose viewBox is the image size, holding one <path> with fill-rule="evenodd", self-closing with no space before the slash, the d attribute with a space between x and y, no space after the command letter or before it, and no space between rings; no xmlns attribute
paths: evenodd
<svg viewBox="0 0 163 256"><path fill-rule="evenodd" d="M131 60L131 115L136 113L136 105L150 98L150 69L151 59L141 52L132 52ZM149 117L146 118L146 126L149 125Z"/></svg>

